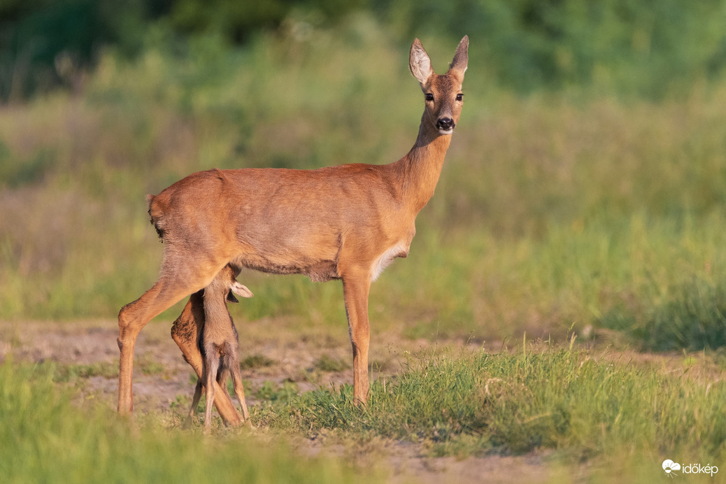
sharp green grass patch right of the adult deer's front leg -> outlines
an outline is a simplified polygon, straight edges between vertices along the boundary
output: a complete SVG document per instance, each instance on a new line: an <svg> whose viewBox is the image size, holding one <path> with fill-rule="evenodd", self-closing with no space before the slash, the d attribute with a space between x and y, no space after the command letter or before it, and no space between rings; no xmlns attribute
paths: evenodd
<svg viewBox="0 0 726 484"><path fill-rule="evenodd" d="M601 462L620 452L726 462L726 385L703 356L675 368L600 351L525 345L408 355L379 377L367 406L352 388L314 390L278 406L272 425L309 435L423 443L432 455L521 454ZM658 460L660 459L660 460Z"/></svg>

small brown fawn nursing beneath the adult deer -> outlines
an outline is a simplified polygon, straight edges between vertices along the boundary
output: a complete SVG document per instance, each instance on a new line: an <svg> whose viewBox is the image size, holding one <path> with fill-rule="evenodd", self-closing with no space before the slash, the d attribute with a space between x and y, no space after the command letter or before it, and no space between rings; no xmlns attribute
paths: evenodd
<svg viewBox="0 0 726 484"><path fill-rule="evenodd" d="M202 396L202 388L207 390L207 407L204 414L205 432L211 430L212 404L215 400L215 382L227 394L227 376L232 375L234 394L242 406L242 419L249 422L250 414L245 402L245 390L242 388L240 359L237 356L238 335L232 316L227 311L227 302L237 303L234 294L242 298L251 298L252 292L235 280L239 270L225 266L214 280L205 287L204 327L197 335L197 348L204 358L203 377L197 380L192 408L189 409L187 422L190 422ZM222 395L219 393L218 395Z"/></svg>

